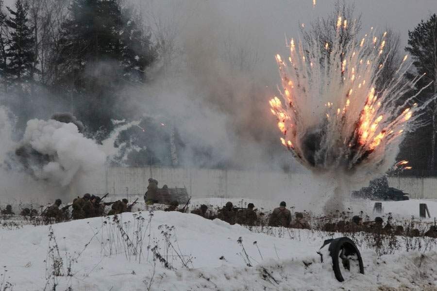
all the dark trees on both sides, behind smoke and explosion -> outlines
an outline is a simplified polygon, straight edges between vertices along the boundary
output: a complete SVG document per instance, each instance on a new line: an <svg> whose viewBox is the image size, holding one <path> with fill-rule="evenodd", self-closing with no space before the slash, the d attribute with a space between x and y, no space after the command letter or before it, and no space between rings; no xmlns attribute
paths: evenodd
<svg viewBox="0 0 437 291"><path fill-rule="evenodd" d="M361 17L352 5L340 1L330 15L303 31L303 39L312 41L311 35L318 35L321 46L330 43L338 15L354 19L354 31L341 31L346 46L354 33L360 33ZM174 57L174 26L158 29L152 40L140 13L123 0L17 0L13 7L0 0L1 101L17 115L17 128L23 129L27 120L56 104L54 108L83 121L87 134L103 139L113 129L111 119L126 117L123 88L144 85L151 77L151 65ZM399 34L387 32L381 56L386 65L377 84L384 84L403 59ZM422 20L408 37L404 50L413 60L411 75L425 74L413 90L433 82L415 100L420 103L437 94L436 14ZM163 69L166 66L164 62ZM421 121L423 127L407 133L398 160L408 160L413 167L405 175L435 176L436 102Z"/></svg>

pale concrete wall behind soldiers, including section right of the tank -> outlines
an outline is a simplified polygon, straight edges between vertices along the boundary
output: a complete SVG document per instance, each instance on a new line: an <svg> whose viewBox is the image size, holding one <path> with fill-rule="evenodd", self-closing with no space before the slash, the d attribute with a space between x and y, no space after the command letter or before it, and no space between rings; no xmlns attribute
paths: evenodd
<svg viewBox="0 0 437 291"><path fill-rule="evenodd" d="M148 178L159 181L159 187L186 187L193 197L289 197L290 192L310 194L317 180L308 174L210 170L151 166L146 168L110 167L104 173L88 178L89 192L111 195L142 195ZM411 198L437 198L437 178L388 178L389 185L410 194ZM358 190L361 186L356 185ZM354 190L354 189L352 189ZM319 191L319 190L317 190Z"/></svg>

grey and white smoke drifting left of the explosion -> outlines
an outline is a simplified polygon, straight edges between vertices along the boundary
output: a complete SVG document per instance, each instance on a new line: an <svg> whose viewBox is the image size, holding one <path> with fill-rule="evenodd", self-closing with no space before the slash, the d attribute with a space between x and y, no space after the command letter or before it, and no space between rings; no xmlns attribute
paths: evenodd
<svg viewBox="0 0 437 291"><path fill-rule="evenodd" d="M299 22L307 23L332 9L332 1L318 2L312 10L309 0L138 1L136 6L152 30L152 39L160 45L160 60L148 72L150 80L142 87L127 85L119 92L123 100L119 102L120 112L125 115L126 124L117 133L128 129L133 120L152 117L177 132L183 144L178 148L180 165L305 171L279 144L276 121L267 102L277 93L279 78L274 55L286 51L284 36L297 35ZM360 12L362 8L357 6ZM366 17L366 11L363 13ZM417 23L419 18L409 20ZM371 21L365 24L378 25ZM396 22L393 26L399 27ZM37 115L42 119L55 110L68 108L67 104L37 98ZM93 167L87 162L103 166L95 143L74 132L77 129L72 125L39 120L32 121L31 126L25 134L27 145L35 146L43 155L58 155L58 160L37 167L34 176L44 179L40 180L44 185L50 181L57 193L65 192L62 185L75 184L80 171L92 172ZM10 126L2 130L12 134ZM101 151L109 156L118 153L114 148L116 135L112 134L101 146ZM62 142L61 136L68 142ZM0 143L7 144L1 147L2 154L8 152L6 148L15 150L12 138L2 138ZM98 154L80 152L88 147L89 153ZM67 148L65 152L63 149ZM78 161L73 162L74 159ZM29 187L32 188L36 189ZM79 189L75 190L74 196L80 194ZM44 191L52 193L47 188Z"/></svg>

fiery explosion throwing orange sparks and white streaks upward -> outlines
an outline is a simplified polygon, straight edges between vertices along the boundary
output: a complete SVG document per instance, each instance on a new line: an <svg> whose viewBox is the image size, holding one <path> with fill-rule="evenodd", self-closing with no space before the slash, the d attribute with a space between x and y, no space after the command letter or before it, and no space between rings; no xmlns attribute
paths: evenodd
<svg viewBox="0 0 437 291"><path fill-rule="evenodd" d="M288 60L276 55L283 88L270 100L271 113L281 143L307 168L384 173L394 164L404 133L420 126L418 117L431 100L414 102L419 93L410 92L422 76L405 77L411 66L407 55L378 87L390 53L383 57L387 32L377 35L372 28L344 45L340 35L347 26L340 16L332 43L320 45L315 36L310 44L291 39Z"/></svg>

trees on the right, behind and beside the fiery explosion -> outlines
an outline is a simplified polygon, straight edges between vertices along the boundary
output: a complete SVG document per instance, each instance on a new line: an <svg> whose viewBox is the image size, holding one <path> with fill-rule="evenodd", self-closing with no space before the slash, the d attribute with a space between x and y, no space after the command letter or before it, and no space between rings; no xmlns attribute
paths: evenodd
<svg viewBox="0 0 437 291"><path fill-rule="evenodd" d="M326 53L325 44L332 44L336 35L336 21L338 16L348 20L353 19L353 25L341 28L338 32L340 48L344 50L353 38L361 32L361 15L356 15L354 5L347 5L345 1L338 0L334 10L327 17L311 23L309 29L302 29L303 40L307 44L314 42L317 37L320 49ZM413 64L407 73L408 78L417 75L424 76L416 83L415 88L407 96L399 96L399 104L402 104L411 95L419 92L431 82L431 85L420 92L412 103L419 105L437 94L437 15L430 15L423 19L411 31L408 31L408 44L401 48L399 33L386 28L386 45L380 62L385 62L378 79L377 87L383 87L390 80L393 73L399 68L405 53L413 60ZM331 45L329 46L331 47ZM329 53L329 52L328 52ZM437 101L428 105L424 114L420 117L421 127L413 132L407 132L403 143L400 145L398 161L409 161L411 170L394 172L405 176L437 176ZM392 172L393 173L393 172Z"/></svg>

